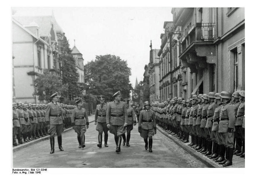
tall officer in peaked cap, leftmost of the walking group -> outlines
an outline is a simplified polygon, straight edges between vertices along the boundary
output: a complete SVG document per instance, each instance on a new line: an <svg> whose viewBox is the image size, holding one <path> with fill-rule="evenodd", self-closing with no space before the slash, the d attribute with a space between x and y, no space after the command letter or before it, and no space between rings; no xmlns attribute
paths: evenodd
<svg viewBox="0 0 256 181"><path fill-rule="evenodd" d="M59 94L56 92L50 96L52 102L50 102L46 107L45 120L47 123L50 123L50 128L48 133L50 135L51 143L51 152L54 153L54 135L57 133L58 145L61 151L64 151L62 148L62 138L61 133L63 132L63 112L59 101Z"/></svg>

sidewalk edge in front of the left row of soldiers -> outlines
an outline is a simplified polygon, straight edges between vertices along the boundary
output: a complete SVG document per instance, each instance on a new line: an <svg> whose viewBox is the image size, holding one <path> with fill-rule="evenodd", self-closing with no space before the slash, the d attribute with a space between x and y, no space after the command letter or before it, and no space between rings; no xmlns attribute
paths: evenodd
<svg viewBox="0 0 256 181"><path fill-rule="evenodd" d="M89 123L94 124L94 121L95 121L94 118L95 118L94 114L91 114L90 116L88 116ZM71 128L64 129L64 132L69 131L69 130L73 130L73 128L71 127ZM23 143L21 145L13 147L13 153L22 149L22 148L25 148L25 147L28 147L30 145L34 145L35 143L38 143L38 142L41 142L41 141L44 141L44 140L49 140L49 139L50 139L50 135L47 135L45 137L30 141L30 142Z"/></svg>

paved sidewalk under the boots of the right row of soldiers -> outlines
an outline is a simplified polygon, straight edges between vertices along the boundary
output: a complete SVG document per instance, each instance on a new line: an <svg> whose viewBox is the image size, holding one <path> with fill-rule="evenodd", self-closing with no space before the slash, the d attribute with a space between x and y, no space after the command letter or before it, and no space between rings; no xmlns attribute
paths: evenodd
<svg viewBox="0 0 256 181"><path fill-rule="evenodd" d="M197 158L200 161L202 161L208 167L211 167L211 168L225 168L225 167L222 167L221 165L219 165L218 163L215 163L211 159L207 158L207 156L197 152L195 149L193 149L190 146L188 146L190 144L190 142L191 142L191 136L189 136L189 142L188 143L183 143L180 140L178 140L176 137L174 137L173 135L166 133L165 130L163 130L161 127L157 126L157 129L163 135L165 135L166 137L170 138L178 146L183 148L185 151L187 151L189 154L191 154L195 158ZM241 158L240 156L233 155L232 163L233 164L231 166L228 166L226 168L245 168L245 159Z"/></svg>

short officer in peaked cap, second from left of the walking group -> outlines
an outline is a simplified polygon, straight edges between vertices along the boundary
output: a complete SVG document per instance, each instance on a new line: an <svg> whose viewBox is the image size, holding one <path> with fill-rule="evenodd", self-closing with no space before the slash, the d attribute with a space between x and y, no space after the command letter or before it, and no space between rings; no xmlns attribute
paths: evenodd
<svg viewBox="0 0 256 181"><path fill-rule="evenodd" d="M75 132L77 133L77 140L79 143L78 148L85 147L85 132L86 129L89 128L89 120L88 115L83 108L83 101L82 99L78 99L75 101L77 104L77 108L75 108L71 115L71 125ZM85 126L86 125L86 126Z"/></svg>

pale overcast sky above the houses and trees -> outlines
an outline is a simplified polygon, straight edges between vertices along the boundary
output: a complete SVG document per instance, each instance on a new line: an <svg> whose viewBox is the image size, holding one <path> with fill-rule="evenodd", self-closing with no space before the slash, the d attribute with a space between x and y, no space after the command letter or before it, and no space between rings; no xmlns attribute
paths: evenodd
<svg viewBox="0 0 256 181"><path fill-rule="evenodd" d="M111 54L127 60L135 86L143 80L152 48L159 49L164 21L172 21L171 7L13 7L15 15L51 15L65 32L70 48L83 54L84 64L95 55Z"/></svg>

